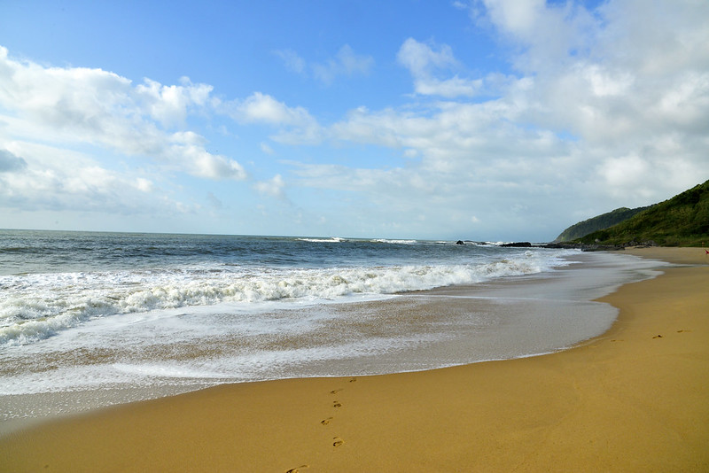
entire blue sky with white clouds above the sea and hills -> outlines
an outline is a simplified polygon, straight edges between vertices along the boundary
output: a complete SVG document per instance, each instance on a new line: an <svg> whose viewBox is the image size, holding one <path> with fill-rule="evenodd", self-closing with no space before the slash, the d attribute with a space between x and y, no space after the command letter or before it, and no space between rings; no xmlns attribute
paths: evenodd
<svg viewBox="0 0 709 473"><path fill-rule="evenodd" d="M545 242L707 179L706 0L0 2L0 228Z"/></svg>

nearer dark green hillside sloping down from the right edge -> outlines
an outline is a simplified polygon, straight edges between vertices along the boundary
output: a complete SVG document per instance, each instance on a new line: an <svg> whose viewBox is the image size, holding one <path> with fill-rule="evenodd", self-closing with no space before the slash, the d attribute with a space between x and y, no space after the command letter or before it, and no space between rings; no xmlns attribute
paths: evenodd
<svg viewBox="0 0 709 473"><path fill-rule="evenodd" d="M709 181L576 241L620 245L654 242L662 246L709 244Z"/></svg>

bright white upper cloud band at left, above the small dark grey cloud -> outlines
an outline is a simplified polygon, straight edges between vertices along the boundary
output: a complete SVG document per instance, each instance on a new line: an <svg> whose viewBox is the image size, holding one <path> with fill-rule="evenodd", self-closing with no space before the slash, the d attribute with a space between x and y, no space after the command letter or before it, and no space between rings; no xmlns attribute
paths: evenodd
<svg viewBox="0 0 709 473"><path fill-rule="evenodd" d="M134 86L101 69L20 62L0 48L0 105L13 136L97 145L199 177L243 179L238 162L206 151L202 136L168 129L183 122L191 107L205 106L211 89L186 78L180 86L147 79Z"/></svg>

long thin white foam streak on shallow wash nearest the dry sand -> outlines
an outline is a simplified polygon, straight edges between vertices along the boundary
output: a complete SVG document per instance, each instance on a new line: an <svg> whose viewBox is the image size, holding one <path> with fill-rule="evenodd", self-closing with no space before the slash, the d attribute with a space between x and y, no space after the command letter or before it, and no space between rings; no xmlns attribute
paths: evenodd
<svg viewBox="0 0 709 473"><path fill-rule="evenodd" d="M103 330L106 329L108 333L113 333L121 339L117 327L111 329L105 325ZM191 341L199 339L195 334L191 335L194 336L191 337ZM132 332L130 337L139 337L139 335ZM407 347L431 343L437 338L440 337L430 334L416 337L370 337L366 344L362 344L361 340L333 341L331 344L288 349L245 350L243 353L229 353L206 359L189 356L182 358L184 353L174 353L175 360L126 360L72 365L49 370L43 366L35 366L37 371L4 376L3 383L0 384L0 396L80 392L99 388L117 388L127 384L142 387L180 384L206 386L303 376L302 370L305 369L307 373L308 366L329 364L342 359L353 360L363 356L376 357L382 353L399 352ZM106 342L105 338L102 339ZM154 343L154 340L151 342ZM170 340L170 344L175 342L176 340ZM70 345L71 343L69 341ZM96 349L96 345L90 343L83 348L93 350ZM294 367L300 368L294 369ZM325 376L331 374L325 373ZM0 412L0 419L2 414Z"/></svg>

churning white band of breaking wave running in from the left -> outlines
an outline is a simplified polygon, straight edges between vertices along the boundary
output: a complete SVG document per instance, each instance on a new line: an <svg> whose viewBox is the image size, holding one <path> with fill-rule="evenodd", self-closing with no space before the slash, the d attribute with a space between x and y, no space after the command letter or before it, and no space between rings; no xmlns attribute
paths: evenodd
<svg viewBox="0 0 709 473"><path fill-rule="evenodd" d="M530 275L563 264L546 253L463 265L350 268L191 268L0 277L0 345L26 345L92 318L187 306L338 300L393 294L498 277Z"/></svg>

